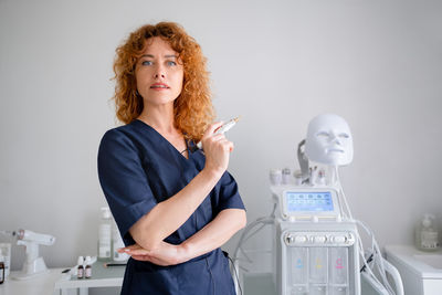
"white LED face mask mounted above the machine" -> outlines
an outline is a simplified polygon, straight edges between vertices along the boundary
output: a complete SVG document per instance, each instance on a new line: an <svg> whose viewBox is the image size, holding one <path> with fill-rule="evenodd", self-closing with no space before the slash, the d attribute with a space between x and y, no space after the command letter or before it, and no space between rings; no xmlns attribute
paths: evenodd
<svg viewBox="0 0 442 295"><path fill-rule="evenodd" d="M352 137L347 122L334 114L316 116L308 124L305 154L308 159L332 166L352 160Z"/></svg>

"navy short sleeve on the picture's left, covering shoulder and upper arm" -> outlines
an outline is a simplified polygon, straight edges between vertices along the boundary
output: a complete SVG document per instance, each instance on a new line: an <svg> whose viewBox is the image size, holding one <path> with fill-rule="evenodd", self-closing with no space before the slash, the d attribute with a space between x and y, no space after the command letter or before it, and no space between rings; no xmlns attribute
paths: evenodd
<svg viewBox="0 0 442 295"><path fill-rule="evenodd" d="M128 233L157 201L150 190L140 156L124 133L108 130L98 148L98 178L110 211L125 242Z"/></svg>

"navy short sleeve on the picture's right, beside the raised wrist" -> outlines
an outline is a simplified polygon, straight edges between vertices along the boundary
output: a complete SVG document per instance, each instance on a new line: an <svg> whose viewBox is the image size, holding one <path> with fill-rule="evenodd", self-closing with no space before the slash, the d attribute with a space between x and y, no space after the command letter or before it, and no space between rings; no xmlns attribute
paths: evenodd
<svg viewBox="0 0 442 295"><path fill-rule="evenodd" d="M218 212L224 209L245 210L244 203L241 200L241 196L238 189L238 183L228 171L223 173L220 180L220 196L217 209Z"/></svg>

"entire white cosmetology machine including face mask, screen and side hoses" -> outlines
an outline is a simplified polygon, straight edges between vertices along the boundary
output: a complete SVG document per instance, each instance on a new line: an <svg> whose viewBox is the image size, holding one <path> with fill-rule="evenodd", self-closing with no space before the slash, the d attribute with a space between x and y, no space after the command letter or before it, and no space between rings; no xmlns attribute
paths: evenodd
<svg viewBox="0 0 442 295"><path fill-rule="evenodd" d="M257 232L257 225L270 224L278 295L403 295L398 271L382 259L373 235L351 217L347 204L338 167L350 164L352 154L351 133L341 117L315 117L297 148L301 171L294 176L290 169L271 171L273 212L245 228L233 257L235 268L241 266L240 255L246 256L243 242ZM372 238L368 251L358 226Z"/></svg>

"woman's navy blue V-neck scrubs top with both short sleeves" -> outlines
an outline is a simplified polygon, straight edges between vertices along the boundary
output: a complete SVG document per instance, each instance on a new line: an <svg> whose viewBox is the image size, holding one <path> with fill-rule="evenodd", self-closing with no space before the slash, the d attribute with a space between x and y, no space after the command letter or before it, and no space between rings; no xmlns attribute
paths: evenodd
<svg viewBox="0 0 442 295"><path fill-rule="evenodd" d="M194 146L193 143L189 145ZM127 245L129 229L157 203L183 189L204 167L201 150L187 159L152 127L135 119L108 130L98 150L98 177L110 211ZM238 186L224 172L191 217L165 242L180 244L224 209L244 209ZM159 266L129 259L122 294L235 294L229 261L220 249L188 262Z"/></svg>

